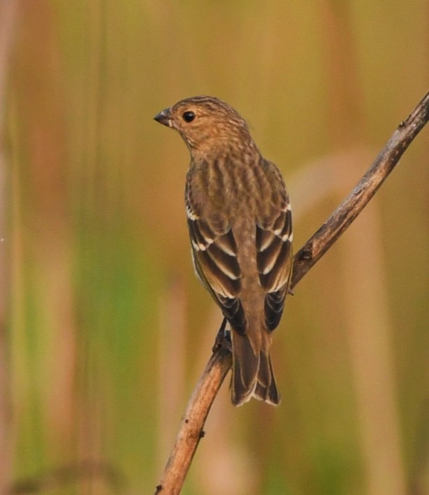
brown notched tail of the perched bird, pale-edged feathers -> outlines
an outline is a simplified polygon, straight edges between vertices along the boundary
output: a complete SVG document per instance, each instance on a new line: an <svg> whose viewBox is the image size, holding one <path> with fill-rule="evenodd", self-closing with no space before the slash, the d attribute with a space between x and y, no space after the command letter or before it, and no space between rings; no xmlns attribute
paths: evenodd
<svg viewBox="0 0 429 495"><path fill-rule="evenodd" d="M268 349L255 354L248 336L231 330L233 375L231 401L241 406L252 397L277 406L280 394L275 384Z"/></svg>

